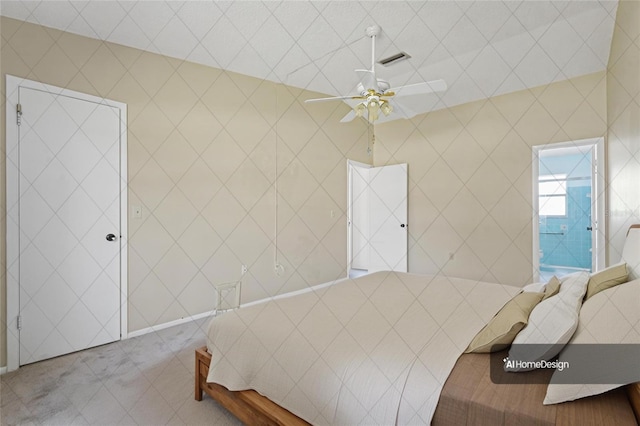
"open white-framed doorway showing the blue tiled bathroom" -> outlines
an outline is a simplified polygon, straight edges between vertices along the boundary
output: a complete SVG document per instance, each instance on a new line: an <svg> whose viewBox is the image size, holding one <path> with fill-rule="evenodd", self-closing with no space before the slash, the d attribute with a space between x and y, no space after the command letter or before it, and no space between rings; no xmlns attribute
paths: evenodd
<svg viewBox="0 0 640 426"><path fill-rule="evenodd" d="M604 267L604 141L533 148L534 277Z"/></svg>

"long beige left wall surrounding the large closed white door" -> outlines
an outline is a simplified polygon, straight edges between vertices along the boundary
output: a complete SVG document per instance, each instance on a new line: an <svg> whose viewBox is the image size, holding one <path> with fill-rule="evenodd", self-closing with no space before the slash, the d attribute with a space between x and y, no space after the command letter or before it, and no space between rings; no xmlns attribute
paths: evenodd
<svg viewBox="0 0 640 426"><path fill-rule="evenodd" d="M305 110L318 94L4 17L1 30L3 129L5 74L128 105L129 206L142 207L129 215L130 331L210 311L212 284L242 264L243 303L346 274L346 159L371 159L365 123L339 123L345 105Z"/></svg>

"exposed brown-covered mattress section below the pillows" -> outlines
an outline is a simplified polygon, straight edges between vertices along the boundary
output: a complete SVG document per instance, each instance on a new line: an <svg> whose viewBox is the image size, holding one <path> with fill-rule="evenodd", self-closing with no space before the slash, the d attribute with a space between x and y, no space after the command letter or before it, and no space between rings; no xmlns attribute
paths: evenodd
<svg viewBox="0 0 640 426"><path fill-rule="evenodd" d="M498 359L507 351L493 355ZM511 374L492 383L490 355L464 354L442 389L433 426L448 425L637 425L623 388L576 401L543 405L553 370Z"/></svg>

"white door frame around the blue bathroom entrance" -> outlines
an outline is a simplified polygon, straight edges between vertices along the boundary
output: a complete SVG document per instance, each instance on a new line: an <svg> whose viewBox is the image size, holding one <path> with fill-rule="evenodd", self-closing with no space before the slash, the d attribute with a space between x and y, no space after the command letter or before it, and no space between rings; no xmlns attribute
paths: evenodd
<svg viewBox="0 0 640 426"><path fill-rule="evenodd" d="M605 191L605 150L604 137L580 139L569 142L535 145L532 147L532 207L533 207L533 280L540 280L540 214L538 205L538 175L540 174L540 152L555 148L587 147L592 149L591 163L591 265L594 271L604 269L606 266L606 191Z"/></svg>

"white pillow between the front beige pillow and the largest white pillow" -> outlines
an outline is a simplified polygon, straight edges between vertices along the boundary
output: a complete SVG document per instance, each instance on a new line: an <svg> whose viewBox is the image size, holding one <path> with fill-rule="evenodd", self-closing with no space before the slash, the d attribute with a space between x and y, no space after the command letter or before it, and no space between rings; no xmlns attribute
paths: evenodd
<svg viewBox="0 0 640 426"><path fill-rule="evenodd" d="M578 327L578 313L589 282L588 272L560 279L557 295L540 302L529 315L529 323L516 336L509 350L513 361L535 362L556 356ZM522 346L526 345L526 346ZM510 369L527 371L530 369Z"/></svg>

